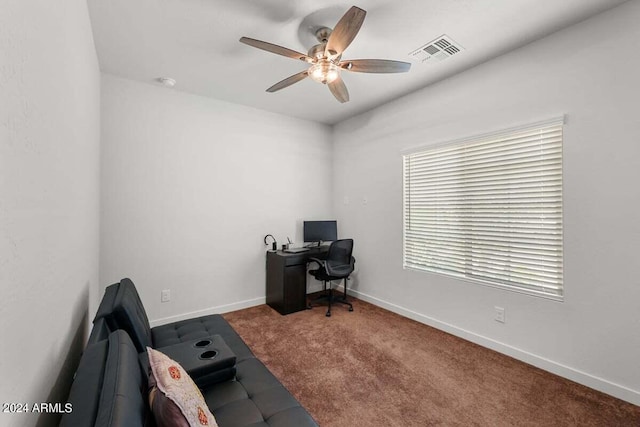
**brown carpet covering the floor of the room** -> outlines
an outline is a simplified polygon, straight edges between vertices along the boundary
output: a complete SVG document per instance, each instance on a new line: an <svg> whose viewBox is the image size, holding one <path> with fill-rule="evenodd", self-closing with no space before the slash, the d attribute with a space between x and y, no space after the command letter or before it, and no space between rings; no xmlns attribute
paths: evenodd
<svg viewBox="0 0 640 427"><path fill-rule="evenodd" d="M227 313L323 427L640 426L640 407L360 300Z"/></svg>

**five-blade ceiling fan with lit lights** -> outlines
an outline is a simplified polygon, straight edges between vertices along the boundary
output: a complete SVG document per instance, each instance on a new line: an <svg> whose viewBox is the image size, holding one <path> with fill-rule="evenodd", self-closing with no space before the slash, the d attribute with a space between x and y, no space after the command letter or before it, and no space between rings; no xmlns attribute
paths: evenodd
<svg viewBox="0 0 640 427"><path fill-rule="evenodd" d="M329 90L340 102L349 101L347 86L340 77L340 71L354 71L358 73L405 73L411 68L408 62L392 61L388 59L352 59L342 60L342 52L351 44L358 34L366 11L352 6L331 30L321 27L315 32L318 44L309 49L308 54L296 52L286 47L261 40L241 37L240 42L267 52L286 56L311 64L309 68L294 74L274 84L267 92L276 92L297 83L307 77L326 84Z"/></svg>

